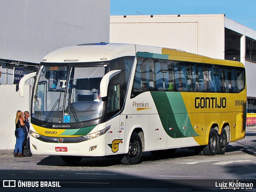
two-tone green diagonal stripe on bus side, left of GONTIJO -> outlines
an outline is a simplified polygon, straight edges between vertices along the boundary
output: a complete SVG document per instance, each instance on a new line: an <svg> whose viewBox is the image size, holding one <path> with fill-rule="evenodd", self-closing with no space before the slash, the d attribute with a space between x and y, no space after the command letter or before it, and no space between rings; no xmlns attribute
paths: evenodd
<svg viewBox="0 0 256 192"><path fill-rule="evenodd" d="M193 129L180 92L150 92L162 126L172 138L199 136Z"/></svg>

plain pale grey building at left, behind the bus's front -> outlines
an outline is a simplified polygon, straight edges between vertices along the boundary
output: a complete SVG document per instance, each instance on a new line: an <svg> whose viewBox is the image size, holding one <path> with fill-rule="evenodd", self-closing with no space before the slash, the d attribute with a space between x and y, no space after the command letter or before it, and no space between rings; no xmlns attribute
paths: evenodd
<svg viewBox="0 0 256 192"><path fill-rule="evenodd" d="M1 1L0 132L4 137L0 149L14 148L16 112L30 110L32 79L26 83L25 97L20 98L14 67L26 75L36 71L42 58L53 50L108 42L109 20L110 0Z"/></svg>

